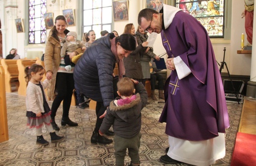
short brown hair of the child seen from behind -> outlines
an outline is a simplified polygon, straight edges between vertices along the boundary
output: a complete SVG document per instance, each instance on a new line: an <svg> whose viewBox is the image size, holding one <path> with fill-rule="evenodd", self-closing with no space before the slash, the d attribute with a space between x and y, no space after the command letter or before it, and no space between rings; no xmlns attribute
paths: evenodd
<svg viewBox="0 0 256 166"><path fill-rule="evenodd" d="M117 83L117 90L122 96L130 96L134 91L134 83L129 78L124 77Z"/></svg>

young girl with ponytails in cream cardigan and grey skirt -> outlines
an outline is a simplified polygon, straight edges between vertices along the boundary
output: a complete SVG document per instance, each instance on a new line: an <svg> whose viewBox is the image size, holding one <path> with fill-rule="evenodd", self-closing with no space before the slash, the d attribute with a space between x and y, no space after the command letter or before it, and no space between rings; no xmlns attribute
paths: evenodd
<svg viewBox="0 0 256 166"><path fill-rule="evenodd" d="M36 143L41 145L48 145L49 142L42 136L42 125L45 124L46 129L50 132L51 141L56 142L64 139L64 137L57 136L51 125L51 110L46 101L44 89L48 86L49 81L47 79L41 82L44 75L44 68L39 64L32 64L31 67L25 68L27 95L26 95L26 107L27 107L27 125L30 128L36 128Z"/></svg>

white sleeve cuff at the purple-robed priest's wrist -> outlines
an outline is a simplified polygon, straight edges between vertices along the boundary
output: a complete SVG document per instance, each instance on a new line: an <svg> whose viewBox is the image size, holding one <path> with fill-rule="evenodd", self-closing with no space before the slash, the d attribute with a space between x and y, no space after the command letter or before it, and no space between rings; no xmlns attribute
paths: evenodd
<svg viewBox="0 0 256 166"><path fill-rule="evenodd" d="M180 56L174 57L173 62L177 71L178 78L181 80L184 77L187 77L190 73L191 70L187 66L187 64L181 59Z"/></svg>

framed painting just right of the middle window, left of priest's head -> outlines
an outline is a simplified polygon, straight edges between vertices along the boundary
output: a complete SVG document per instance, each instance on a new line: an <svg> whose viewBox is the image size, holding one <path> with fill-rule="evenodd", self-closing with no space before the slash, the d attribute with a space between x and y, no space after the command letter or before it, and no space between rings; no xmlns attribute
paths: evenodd
<svg viewBox="0 0 256 166"><path fill-rule="evenodd" d="M128 21L128 0L116 0L112 3L114 21Z"/></svg>

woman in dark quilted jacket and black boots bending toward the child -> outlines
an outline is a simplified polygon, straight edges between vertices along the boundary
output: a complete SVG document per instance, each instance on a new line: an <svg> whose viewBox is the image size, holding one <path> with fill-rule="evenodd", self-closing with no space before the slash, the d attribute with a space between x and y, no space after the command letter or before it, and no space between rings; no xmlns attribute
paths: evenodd
<svg viewBox="0 0 256 166"><path fill-rule="evenodd" d="M108 144L113 142L113 140L98 134L103 121L99 116L114 100L113 70L116 62L118 63L119 78L122 78L125 74L123 58L127 57L135 48L136 41L131 34L115 37L113 33L109 33L107 36L97 39L75 65L75 88L97 102L97 119L91 138L92 143Z"/></svg>

